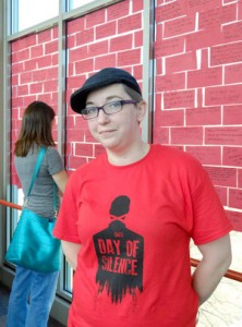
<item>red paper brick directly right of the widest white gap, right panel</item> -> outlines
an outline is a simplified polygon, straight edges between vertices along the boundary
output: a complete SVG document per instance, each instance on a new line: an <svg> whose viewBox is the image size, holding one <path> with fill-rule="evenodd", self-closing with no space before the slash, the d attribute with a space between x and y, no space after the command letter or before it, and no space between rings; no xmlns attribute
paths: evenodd
<svg viewBox="0 0 242 327"><path fill-rule="evenodd" d="M242 61L242 41L216 46L210 49L210 64L218 65Z"/></svg>

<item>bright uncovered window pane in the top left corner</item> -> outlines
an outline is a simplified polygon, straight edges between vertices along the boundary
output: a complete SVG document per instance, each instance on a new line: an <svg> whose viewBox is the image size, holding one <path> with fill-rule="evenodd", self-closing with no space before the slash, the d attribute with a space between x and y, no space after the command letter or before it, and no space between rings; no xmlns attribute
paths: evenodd
<svg viewBox="0 0 242 327"><path fill-rule="evenodd" d="M16 2L13 2L13 11L17 10ZM46 20L57 16L59 13L59 0L19 0L19 16L17 31L28 28Z"/></svg>

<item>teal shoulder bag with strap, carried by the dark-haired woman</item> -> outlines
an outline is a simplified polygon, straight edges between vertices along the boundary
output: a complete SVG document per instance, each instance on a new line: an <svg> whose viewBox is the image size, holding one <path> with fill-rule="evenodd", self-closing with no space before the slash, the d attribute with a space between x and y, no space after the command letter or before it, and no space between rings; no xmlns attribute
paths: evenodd
<svg viewBox="0 0 242 327"><path fill-rule="evenodd" d="M27 197L31 194L45 154L46 147L41 147ZM53 182L53 206L56 214L58 211L57 192L57 185ZM39 272L52 272L60 270L61 243L60 240L52 235L56 220L56 217L41 217L27 209L24 205L20 221L5 254L5 259L17 266Z"/></svg>

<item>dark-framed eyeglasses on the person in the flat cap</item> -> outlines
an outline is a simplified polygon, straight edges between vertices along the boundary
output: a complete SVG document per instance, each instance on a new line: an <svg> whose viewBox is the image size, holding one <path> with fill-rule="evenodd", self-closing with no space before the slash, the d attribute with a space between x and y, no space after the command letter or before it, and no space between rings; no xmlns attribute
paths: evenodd
<svg viewBox="0 0 242 327"><path fill-rule="evenodd" d="M106 114L113 114L122 110L123 105L137 104L135 100L117 100L108 102L101 107L87 107L82 110L82 117L86 120L98 117L100 110Z"/></svg>

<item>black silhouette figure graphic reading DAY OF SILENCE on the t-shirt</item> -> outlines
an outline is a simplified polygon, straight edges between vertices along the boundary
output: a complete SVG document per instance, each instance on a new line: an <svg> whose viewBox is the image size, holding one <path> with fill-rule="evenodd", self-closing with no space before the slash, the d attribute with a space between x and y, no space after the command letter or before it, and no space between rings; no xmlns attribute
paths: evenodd
<svg viewBox="0 0 242 327"><path fill-rule="evenodd" d="M99 292L106 288L113 303L129 293L143 291L144 239L129 230L122 220L130 209L130 198L121 195L111 204L109 227L94 235L98 258L96 282Z"/></svg>

